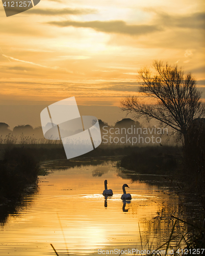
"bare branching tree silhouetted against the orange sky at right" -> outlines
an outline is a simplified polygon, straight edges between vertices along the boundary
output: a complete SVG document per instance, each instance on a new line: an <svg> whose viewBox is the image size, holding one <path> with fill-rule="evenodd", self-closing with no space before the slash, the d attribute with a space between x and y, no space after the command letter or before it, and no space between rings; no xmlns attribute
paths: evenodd
<svg viewBox="0 0 205 256"><path fill-rule="evenodd" d="M196 81L192 74L184 75L182 68L177 65L155 60L153 68L156 74L152 75L150 69L139 70L142 86L139 92L155 99L155 103L143 102L137 96L126 97L121 103L121 109L132 113L137 118L147 117L158 121L179 131L186 143L187 131L191 121L204 115L201 92L196 88Z"/></svg>

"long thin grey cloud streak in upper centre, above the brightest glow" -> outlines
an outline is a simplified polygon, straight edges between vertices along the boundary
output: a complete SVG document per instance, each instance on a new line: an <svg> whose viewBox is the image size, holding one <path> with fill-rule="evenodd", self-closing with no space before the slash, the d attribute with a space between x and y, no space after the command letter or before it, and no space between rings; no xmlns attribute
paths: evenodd
<svg viewBox="0 0 205 256"><path fill-rule="evenodd" d="M72 20L65 20L62 22L47 22L46 24L58 27L76 27L76 28L91 28L99 32L106 33L120 33L129 35L141 35L161 31L160 26L156 25L128 25L123 20L109 20L91 22L75 22Z"/></svg>

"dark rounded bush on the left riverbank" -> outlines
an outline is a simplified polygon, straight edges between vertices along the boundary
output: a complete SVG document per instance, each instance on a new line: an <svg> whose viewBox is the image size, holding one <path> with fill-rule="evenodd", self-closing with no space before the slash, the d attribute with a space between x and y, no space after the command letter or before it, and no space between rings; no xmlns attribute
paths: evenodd
<svg viewBox="0 0 205 256"><path fill-rule="evenodd" d="M24 189L37 181L38 161L24 148L5 150L0 162L0 201L19 200Z"/></svg>

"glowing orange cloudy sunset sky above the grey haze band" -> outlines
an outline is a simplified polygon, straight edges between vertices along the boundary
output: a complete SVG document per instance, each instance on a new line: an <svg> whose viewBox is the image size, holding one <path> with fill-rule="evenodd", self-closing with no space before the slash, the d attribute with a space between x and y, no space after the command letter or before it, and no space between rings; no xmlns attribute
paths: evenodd
<svg viewBox="0 0 205 256"><path fill-rule="evenodd" d="M204 90L204 10L202 0L41 0L6 17L0 3L0 104L117 106L153 59L177 62Z"/></svg>

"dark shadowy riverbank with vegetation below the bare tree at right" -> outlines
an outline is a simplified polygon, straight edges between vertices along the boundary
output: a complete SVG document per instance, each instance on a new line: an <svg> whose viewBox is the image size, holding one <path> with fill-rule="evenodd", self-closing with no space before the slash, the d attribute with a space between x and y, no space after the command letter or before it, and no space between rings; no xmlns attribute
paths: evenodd
<svg viewBox="0 0 205 256"><path fill-rule="evenodd" d="M199 142L203 141L199 140ZM144 147L135 148L131 154L123 156L118 162L119 167L125 168L124 173L133 170L136 174L141 175L164 175L162 178L170 181L170 189L172 187L178 196L185 198L186 205L183 205L185 211L194 212L194 204L200 205L199 209L201 210L197 212L197 219L179 220L176 218L173 226L173 230L178 224L186 223L189 227L187 234L180 239L185 243L184 248L187 250L184 254L187 255L195 254L197 249L198 255L205 255L205 251L199 250L205 248L205 159L200 157L201 153L204 153L203 144L200 147L198 145L196 148L192 147L188 154L184 147ZM168 248L173 239L171 233L170 240L164 247ZM178 249L180 246L178 245L176 248ZM177 249L173 250L173 255L179 254Z"/></svg>

